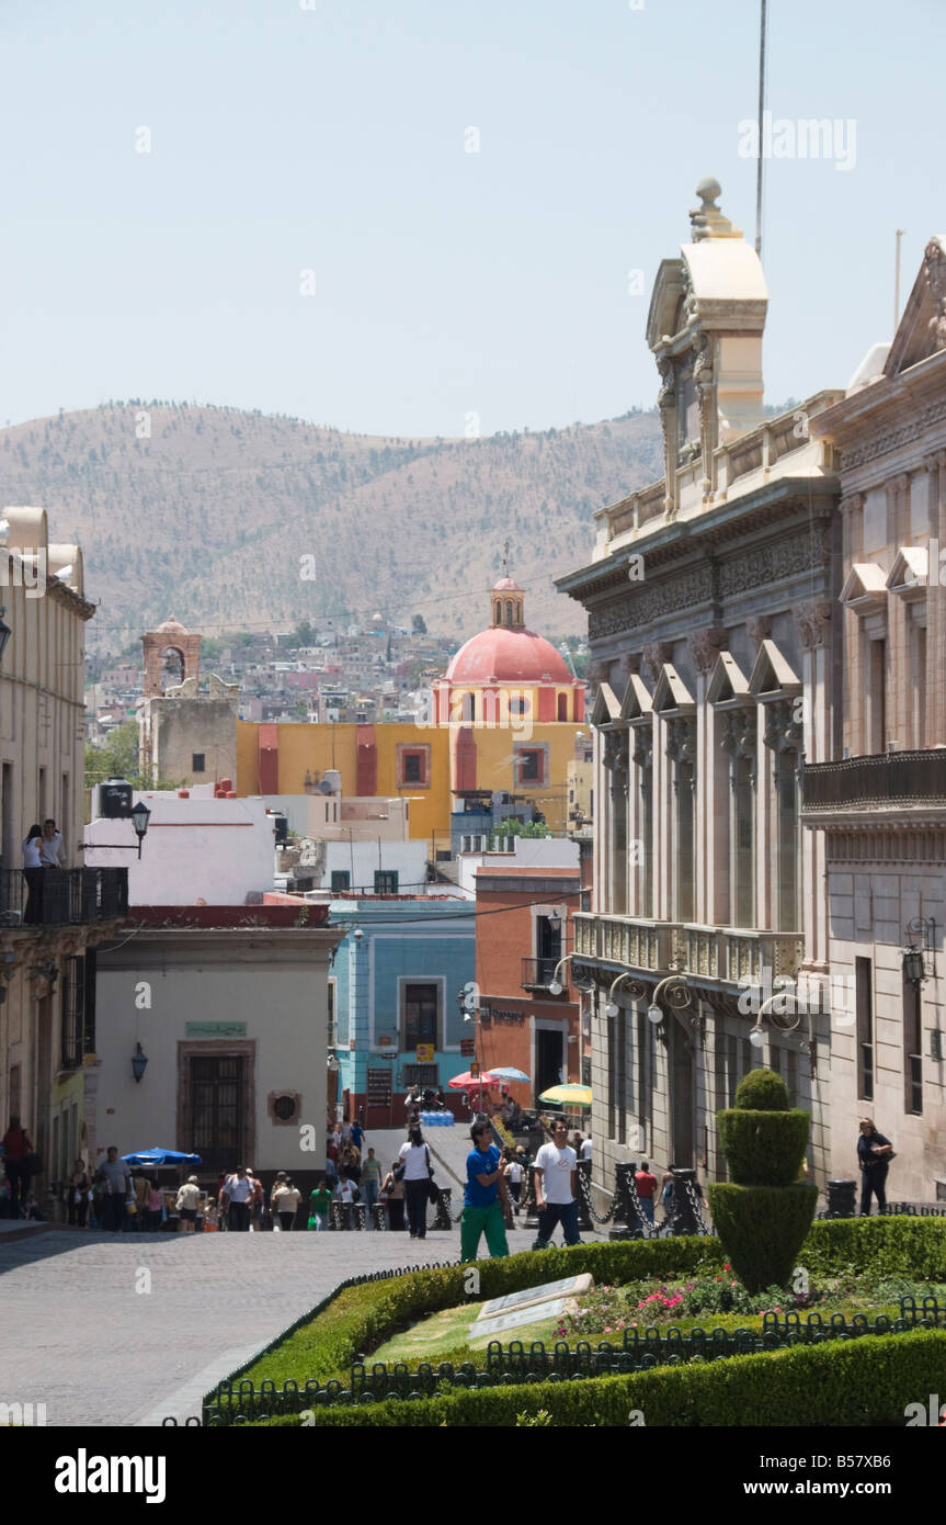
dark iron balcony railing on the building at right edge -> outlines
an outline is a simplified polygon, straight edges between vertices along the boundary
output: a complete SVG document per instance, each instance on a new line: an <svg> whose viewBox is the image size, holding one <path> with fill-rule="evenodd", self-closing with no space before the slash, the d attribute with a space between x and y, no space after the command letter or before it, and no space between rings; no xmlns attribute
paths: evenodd
<svg viewBox="0 0 946 1525"><path fill-rule="evenodd" d="M801 775L803 810L929 802L946 805L946 749L809 762Z"/></svg>

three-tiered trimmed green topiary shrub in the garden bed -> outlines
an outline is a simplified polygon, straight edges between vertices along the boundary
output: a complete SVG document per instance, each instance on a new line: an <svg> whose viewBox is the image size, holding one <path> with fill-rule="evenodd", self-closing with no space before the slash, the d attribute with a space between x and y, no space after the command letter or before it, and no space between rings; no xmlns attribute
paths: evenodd
<svg viewBox="0 0 946 1525"><path fill-rule="evenodd" d="M780 1098L788 1103L781 1078L757 1069L739 1083L736 1107L716 1113L734 1180L708 1185L707 1197L719 1241L748 1292L786 1284L818 1203L818 1188L797 1179L810 1118L775 1106ZM746 1100L759 1104L748 1110Z"/></svg>

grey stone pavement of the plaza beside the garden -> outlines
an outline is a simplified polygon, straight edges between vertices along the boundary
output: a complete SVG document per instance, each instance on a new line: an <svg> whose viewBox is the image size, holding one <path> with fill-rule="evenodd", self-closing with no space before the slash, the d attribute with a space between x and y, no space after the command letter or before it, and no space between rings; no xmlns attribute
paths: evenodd
<svg viewBox="0 0 946 1525"><path fill-rule="evenodd" d="M46 1403L50 1426L180 1423L346 1276L459 1258L459 1228L0 1240L0 1403Z"/></svg>

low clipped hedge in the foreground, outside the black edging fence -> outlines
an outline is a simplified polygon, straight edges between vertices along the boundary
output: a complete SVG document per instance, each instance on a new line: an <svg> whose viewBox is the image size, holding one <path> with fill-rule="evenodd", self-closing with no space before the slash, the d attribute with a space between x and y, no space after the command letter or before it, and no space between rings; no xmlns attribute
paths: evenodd
<svg viewBox="0 0 946 1525"><path fill-rule="evenodd" d="M663 1366L629 1377L538 1382L442 1398L318 1409L260 1420L288 1427L509 1427L519 1414L545 1409L556 1426L626 1427L632 1411L644 1426L871 1426L903 1424L908 1403L941 1391L946 1330L734 1356L711 1365Z"/></svg>

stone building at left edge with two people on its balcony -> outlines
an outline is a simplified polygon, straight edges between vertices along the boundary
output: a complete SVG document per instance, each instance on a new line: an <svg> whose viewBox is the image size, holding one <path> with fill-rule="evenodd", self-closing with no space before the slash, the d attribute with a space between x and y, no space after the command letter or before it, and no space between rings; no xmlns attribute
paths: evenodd
<svg viewBox="0 0 946 1525"><path fill-rule="evenodd" d="M85 598L79 546L50 541L43 508L5 508L0 543L0 1115L20 1113L43 1199L85 1144L96 944L128 909L125 868L82 868ZM52 816L66 868L23 874L23 839Z"/></svg>

